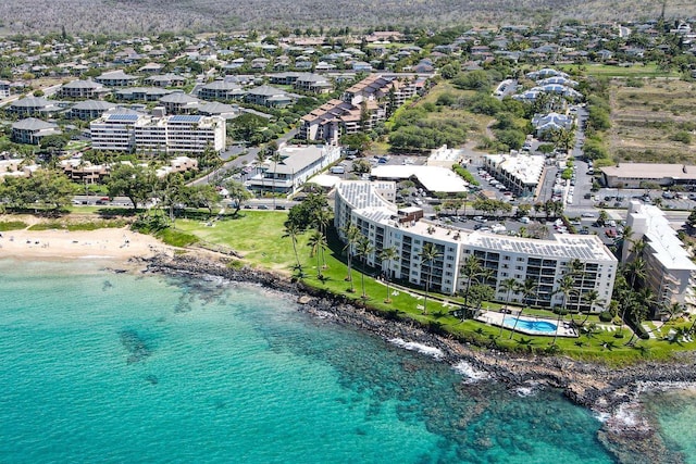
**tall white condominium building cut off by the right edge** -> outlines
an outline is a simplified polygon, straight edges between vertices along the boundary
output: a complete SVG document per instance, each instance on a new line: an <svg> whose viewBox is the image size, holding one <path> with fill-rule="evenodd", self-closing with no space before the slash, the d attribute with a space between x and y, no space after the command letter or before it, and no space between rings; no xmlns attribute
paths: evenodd
<svg viewBox="0 0 696 464"><path fill-rule="evenodd" d="M680 303L693 309L696 264L662 210L633 200L626 227L633 229L633 236L624 243L621 261L631 262L638 256L645 260L644 284L655 294L657 305ZM638 246L641 242L644 244ZM641 253L636 247L643 248Z"/></svg>

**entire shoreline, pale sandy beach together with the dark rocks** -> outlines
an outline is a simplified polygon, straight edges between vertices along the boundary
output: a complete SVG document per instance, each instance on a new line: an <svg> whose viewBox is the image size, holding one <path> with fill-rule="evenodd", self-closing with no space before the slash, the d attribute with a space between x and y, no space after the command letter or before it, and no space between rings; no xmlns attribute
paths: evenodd
<svg viewBox="0 0 696 464"><path fill-rule="evenodd" d="M115 273L159 273L172 276L215 276L252 284L289 298L298 310L330 323L375 335L385 343L420 351L460 372L464 381L498 381L509 390L558 388L573 403L604 423L598 441L625 463L682 463L668 450L641 393L696 388L696 353L680 353L673 362L642 362L623 368L559 355L507 352L462 342L428 330L398 315L372 311L340 294L307 287L291 276L248 266L228 267L228 256L202 250L176 249L127 228L89 231L11 230L0 234L0 259L103 260ZM108 263L108 264L107 264ZM468 379L468 380L467 380Z"/></svg>

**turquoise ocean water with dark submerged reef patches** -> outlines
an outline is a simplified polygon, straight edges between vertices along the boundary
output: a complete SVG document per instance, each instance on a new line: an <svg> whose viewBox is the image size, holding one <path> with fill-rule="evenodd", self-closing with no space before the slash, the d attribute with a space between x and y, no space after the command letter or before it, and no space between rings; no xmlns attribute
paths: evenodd
<svg viewBox="0 0 696 464"><path fill-rule="evenodd" d="M3 463L609 463L600 423L254 287L0 261Z"/></svg>

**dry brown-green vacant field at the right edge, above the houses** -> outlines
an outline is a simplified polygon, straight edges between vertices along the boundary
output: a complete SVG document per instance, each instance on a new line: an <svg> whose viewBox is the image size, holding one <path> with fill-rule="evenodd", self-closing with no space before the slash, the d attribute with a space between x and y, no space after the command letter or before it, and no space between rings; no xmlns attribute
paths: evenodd
<svg viewBox="0 0 696 464"><path fill-rule="evenodd" d="M620 161L696 163L696 93L682 80L641 79L642 87L611 84L609 153ZM678 141L692 134L691 142Z"/></svg>

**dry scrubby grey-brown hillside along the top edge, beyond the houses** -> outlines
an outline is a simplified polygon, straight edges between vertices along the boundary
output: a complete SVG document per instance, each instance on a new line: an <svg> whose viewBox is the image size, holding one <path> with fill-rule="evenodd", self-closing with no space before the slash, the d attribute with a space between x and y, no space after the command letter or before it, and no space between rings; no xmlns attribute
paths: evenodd
<svg viewBox="0 0 696 464"><path fill-rule="evenodd" d="M268 27L447 26L554 24L567 18L622 21L657 17L660 2L626 0L4 0L4 34L57 32L142 34L160 30L233 30ZM696 3L672 0L667 17L696 15Z"/></svg>

